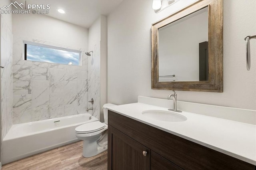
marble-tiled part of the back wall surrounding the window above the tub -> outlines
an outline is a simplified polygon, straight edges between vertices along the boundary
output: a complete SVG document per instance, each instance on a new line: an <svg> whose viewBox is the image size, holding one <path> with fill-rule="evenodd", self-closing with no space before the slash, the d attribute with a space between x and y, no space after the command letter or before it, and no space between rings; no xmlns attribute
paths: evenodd
<svg viewBox="0 0 256 170"><path fill-rule="evenodd" d="M23 40L80 50L82 66L24 61ZM14 124L85 113L88 107L88 57L84 51L35 39L14 39Z"/></svg>

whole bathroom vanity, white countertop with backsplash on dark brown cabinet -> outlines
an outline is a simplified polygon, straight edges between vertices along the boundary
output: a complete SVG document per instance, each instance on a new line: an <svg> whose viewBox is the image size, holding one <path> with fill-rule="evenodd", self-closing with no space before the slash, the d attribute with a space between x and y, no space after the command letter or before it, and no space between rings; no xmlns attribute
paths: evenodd
<svg viewBox="0 0 256 170"><path fill-rule="evenodd" d="M154 101L164 104L152 105ZM171 107L172 102L138 97L138 103L108 108L109 170L255 170L255 124L186 111L174 113L186 118L179 121L168 121L167 117L157 120L142 114L168 112L168 108L159 107L167 105ZM192 109L188 105L191 103L178 102L179 109ZM200 107L202 104L192 105ZM230 112L234 109L203 107L215 111L231 109ZM238 110L237 113L243 109ZM255 111L247 110L245 114L254 115L255 121ZM162 117L161 113L159 117Z"/></svg>

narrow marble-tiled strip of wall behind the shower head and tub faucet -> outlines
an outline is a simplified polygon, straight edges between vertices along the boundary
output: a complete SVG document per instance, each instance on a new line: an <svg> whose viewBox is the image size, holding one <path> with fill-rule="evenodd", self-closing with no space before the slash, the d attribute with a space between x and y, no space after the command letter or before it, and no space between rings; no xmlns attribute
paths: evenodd
<svg viewBox="0 0 256 170"><path fill-rule="evenodd" d="M92 115L100 119L100 42L89 51L93 54L88 57L88 99L93 98L94 104L88 107L93 107Z"/></svg>

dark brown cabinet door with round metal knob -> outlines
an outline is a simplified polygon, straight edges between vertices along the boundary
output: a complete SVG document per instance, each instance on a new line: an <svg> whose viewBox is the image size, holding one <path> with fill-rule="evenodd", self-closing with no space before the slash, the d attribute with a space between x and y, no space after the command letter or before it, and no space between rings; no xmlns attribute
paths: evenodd
<svg viewBox="0 0 256 170"><path fill-rule="evenodd" d="M122 132L108 126L108 170L149 169L150 150Z"/></svg>

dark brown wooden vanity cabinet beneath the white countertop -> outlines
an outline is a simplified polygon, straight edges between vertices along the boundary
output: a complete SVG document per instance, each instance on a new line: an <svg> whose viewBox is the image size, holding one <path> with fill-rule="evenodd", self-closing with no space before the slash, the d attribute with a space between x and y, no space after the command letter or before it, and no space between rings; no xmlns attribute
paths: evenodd
<svg viewBox="0 0 256 170"><path fill-rule="evenodd" d="M256 170L255 166L108 111L108 170Z"/></svg>

